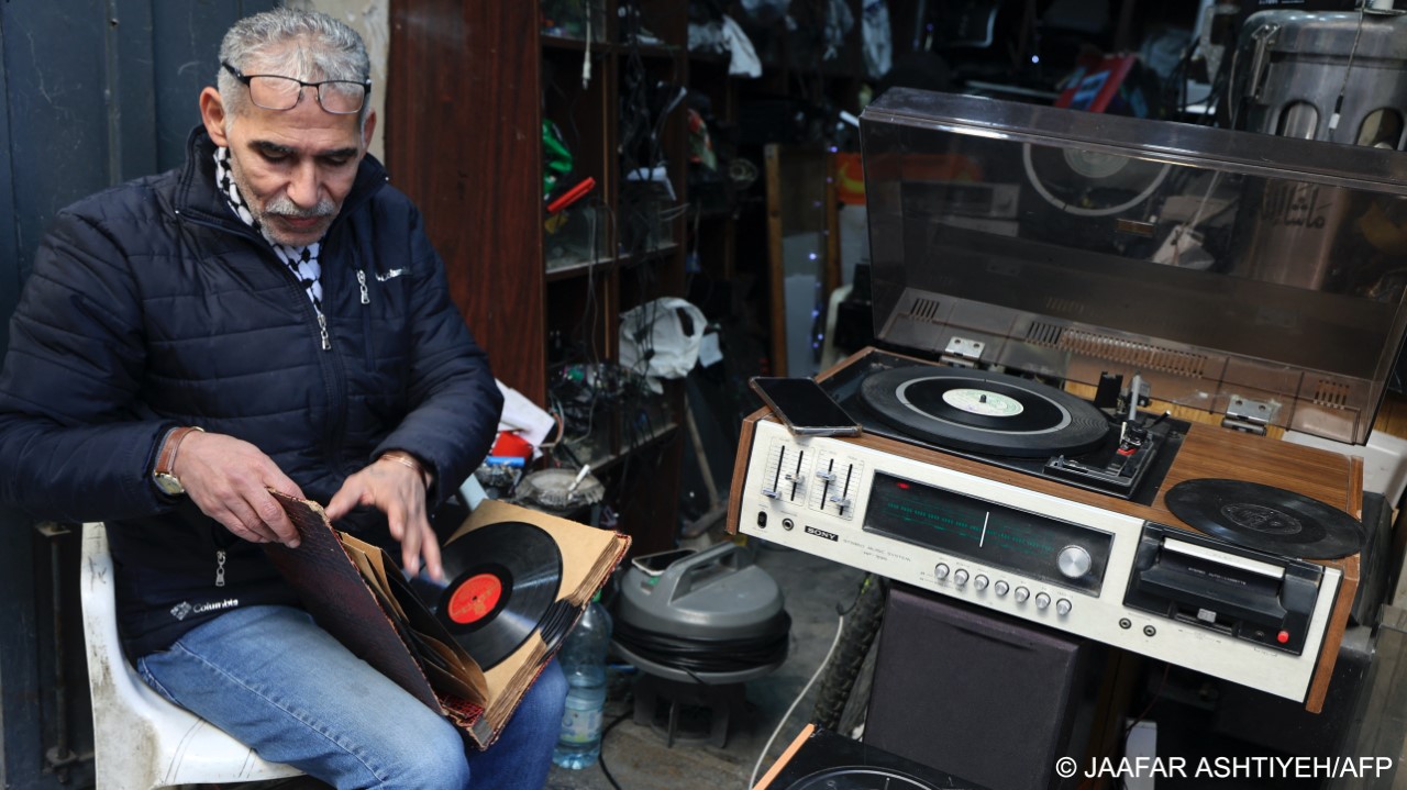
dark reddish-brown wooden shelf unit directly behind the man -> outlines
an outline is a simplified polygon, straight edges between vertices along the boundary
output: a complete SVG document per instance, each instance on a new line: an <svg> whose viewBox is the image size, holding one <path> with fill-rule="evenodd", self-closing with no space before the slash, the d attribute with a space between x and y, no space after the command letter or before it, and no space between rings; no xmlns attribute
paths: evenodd
<svg viewBox="0 0 1407 790"><path fill-rule="evenodd" d="M545 408L554 375L619 360L622 312L685 285L687 103L658 108L688 84L687 4L644 0L636 17L602 3L605 34L590 44L542 34L530 0L393 0L390 10L391 183L421 207L495 375ZM650 38L633 44L632 30ZM545 231L545 122L571 152L566 186L595 180L567 209L570 236ZM666 202L628 180L658 164ZM581 458L636 552L673 547L678 527L682 387L667 381L657 406L639 412L667 419L606 408L605 451Z"/></svg>

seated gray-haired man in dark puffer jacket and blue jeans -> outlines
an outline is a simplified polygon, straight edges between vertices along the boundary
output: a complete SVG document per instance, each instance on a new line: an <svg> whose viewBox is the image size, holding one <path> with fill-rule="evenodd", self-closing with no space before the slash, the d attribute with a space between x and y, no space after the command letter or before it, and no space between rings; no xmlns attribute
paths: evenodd
<svg viewBox="0 0 1407 790"><path fill-rule="evenodd" d="M554 663L466 756L263 555L297 545L273 489L440 576L426 514L502 399L419 214L366 155L356 32L276 10L219 58L184 167L75 204L41 245L0 373L0 499L106 520L128 655L263 758L338 787L540 787Z"/></svg>

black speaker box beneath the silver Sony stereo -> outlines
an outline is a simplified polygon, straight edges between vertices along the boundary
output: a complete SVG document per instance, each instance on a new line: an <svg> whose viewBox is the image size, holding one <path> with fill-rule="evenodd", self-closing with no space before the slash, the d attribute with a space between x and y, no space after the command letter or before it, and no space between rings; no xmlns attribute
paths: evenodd
<svg viewBox="0 0 1407 790"><path fill-rule="evenodd" d="M896 583L864 741L989 787L1059 787L1058 758L1085 763L1106 661L1096 642Z"/></svg>

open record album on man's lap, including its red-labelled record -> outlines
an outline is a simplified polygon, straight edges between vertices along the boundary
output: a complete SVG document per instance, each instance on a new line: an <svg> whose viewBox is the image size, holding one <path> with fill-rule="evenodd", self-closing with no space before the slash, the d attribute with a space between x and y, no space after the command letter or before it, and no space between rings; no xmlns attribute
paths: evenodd
<svg viewBox="0 0 1407 790"><path fill-rule="evenodd" d="M301 544L265 547L314 620L464 738L491 745L630 538L485 500L443 547L443 585L407 582L315 502L274 492Z"/></svg>

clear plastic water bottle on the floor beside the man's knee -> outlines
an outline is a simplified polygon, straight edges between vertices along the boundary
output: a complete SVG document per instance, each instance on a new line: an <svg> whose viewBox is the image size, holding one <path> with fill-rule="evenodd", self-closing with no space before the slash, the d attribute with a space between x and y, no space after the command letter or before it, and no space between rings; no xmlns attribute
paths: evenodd
<svg viewBox="0 0 1407 790"><path fill-rule="evenodd" d="M557 661L567 675L567 710L561 714L552 762L561 768L587 768L601 756L609 647L611 614L601 606L598 595L557 651Z"/></svg>

